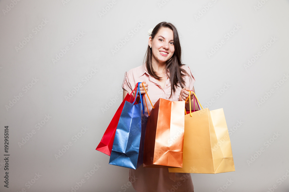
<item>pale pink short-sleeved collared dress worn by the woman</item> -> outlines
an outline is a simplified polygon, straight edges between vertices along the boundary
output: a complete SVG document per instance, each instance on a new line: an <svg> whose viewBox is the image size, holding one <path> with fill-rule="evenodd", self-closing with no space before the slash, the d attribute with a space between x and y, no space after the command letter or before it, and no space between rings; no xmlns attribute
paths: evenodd
<svg viewBox="0 0 289 192"><path fill-rule="evenodd" d="M192 90L195 79L190 71L189 67L182 66L183 69L190 75L184 78L185 87ZM165 73L164 73L165 74ZM168 72L169 75L169 72ZM136 83L145 81L148 84L148 95L154 105L159 98L164 98L171 101L177 101L178 95L181 92L181 87L176 88L176 92L171 95L171 82L169 77L166 76L166 83L162 88L154 77L151 77L147 72L147 68L144 65L138 66L125 72L125 76L122 83L122 88L131 93L135 88ZM152 106L145 95L147 100L147 106L151 111ZM144 106L147 111L146 106ZM192 178L189 173L169 173L168 168L144 168L140 166L138 169L129 169L129 181L137 192L168 192L168 191L182 191L192 192L194 186Z"/></svg>

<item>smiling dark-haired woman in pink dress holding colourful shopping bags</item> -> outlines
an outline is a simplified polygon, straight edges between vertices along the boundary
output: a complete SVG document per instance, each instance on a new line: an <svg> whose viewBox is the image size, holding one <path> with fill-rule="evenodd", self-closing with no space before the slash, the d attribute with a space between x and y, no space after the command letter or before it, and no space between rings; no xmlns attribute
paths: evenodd
<svg viewBox="0 0 289 192"><path fill-rule="evenodd" d="M152 104L159 98L185 101L189 96L188 91L194 91L195 80L190 68L181 63L177 29L171 23L161 22L149 35L144 64L125 72L122 83L123 99L127 93L132 92L136 83L142 82L144 87L140 84L140 92L145 94L145 88ZM151 111L152 106L149 103L147 106ZM189 109L189 101L185 106ZM138 192L194 191L190 174L169 173L168 168L140 166L136 170L130 169L129 181Z"/></svg>

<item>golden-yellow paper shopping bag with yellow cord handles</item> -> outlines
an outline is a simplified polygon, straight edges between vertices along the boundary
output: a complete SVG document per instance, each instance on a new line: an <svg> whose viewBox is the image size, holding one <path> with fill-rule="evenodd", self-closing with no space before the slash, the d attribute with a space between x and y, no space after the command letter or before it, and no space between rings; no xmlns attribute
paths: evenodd
<svg viewBox="0 0 289 192"><path fill-rule="evenodd" d="M191 91L189 97L190 94ZM185 115L183 167L169 168L169 172L215 174L235 171L223 109L201 108Z"/></svg>

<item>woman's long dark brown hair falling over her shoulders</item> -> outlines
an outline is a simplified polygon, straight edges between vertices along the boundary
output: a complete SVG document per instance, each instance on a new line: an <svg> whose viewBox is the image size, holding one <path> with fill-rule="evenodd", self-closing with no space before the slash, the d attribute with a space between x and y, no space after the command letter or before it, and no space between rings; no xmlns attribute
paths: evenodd
<svg viewBox="0 0 289 192"><path fill-rule="evenodd" d="M181 44L179 41L179 34L177 32L177 28L175 28L175 26L173 24L167 23L167 22L160 22L159 24L157 24L155 26L155 28L153 28L153 31L151 32L151 39L155 38L155 35L158 33L158 31L162 27L170 28L174 34L175 52L174 52L173 56L169 60L166 61L166 67L165 67L165 72L167 75L168 75L168 73L167 73L168 70L170 71L171 96L172 96L173 92L176 92L176 87L181 86L181 88L184 88L185 80L183 79L183 77L186 76L185 74L187 74L187 75L189 75L189 74L184 69L181 68L181 66L184 65L181 62ZM147 67L148 73L151 76L153 76L155 79L160 80L161 77L159 77L155 73L155 71L153 70L151 58L152 58L152 50L148 45L147 51L146 51L145 57L144 57L144 64ZM182 74L181 72L183 72L185 74ZM169 98L171 98L171 96Z"/></svg>

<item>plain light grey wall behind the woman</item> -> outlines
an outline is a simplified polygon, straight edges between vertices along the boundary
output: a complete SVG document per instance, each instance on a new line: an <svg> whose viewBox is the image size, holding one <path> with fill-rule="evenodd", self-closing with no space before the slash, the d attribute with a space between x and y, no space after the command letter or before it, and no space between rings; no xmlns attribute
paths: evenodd
<svg viewBox="0 0 289 192"><path fill-rule="evenodd" d="M112 1L63 2L0 1L0 191L72 191L81 179L85 183L77 191L134 191L125 187L130 185L128 169L108 165L109 156L95 148L121 103L125 71L142 64L147 31L162 21L173 23L179 31L183 62L196 79L201 104L210 110L223 108L231 132L236 171L192 174L195 191L222 191L220 187L289 191L289 81L284 81L289 72L288 1L116 0L111 8L107 3ZM260 9L254 8L258 2ZM211 7L205 10L208 4ZM100 16L105 7L109 10ZM129 35L139 22L143 26ZM232 32L234 25L240 28ZM38 26L41 29L35 34ZM85 34L77 39L79 31ZM234 34L225 38L230 32ZM29 34L33 38L16 50ZM112 54L125 37L129 41ZM262 46L270 45L271 37L277 40L264 52ZM79 41L71 46L75 38ZM225 44L209 57L221 40ZM69 50L61 55L66 46ZM244 65L258 52L262 55L246 70ZM52 59L59 54L62 57L54 64ZM92 69L98 71L90 76ZM91 77L86 83L85 76ZM34 83L33 78L39 80ZM79 83L82 87L67 100L65 96ZM32 87L25 92L25 86ZM261 97L266 100L258 105ZM47 122L45 115L51 116ZM41 122L37 130L35 125ZM3 183L4 126L9 126L9 189ZM79 134L82 127L87 131ZM32 130L35 134L19 147ZM279 136L273 138L275 133ZM75 139L75 134L81 137ZM267 140L270 145L264 144ZM73 145L56 159L55 154L69 142ZM255 161L248 163L254 155ZM95 165L98 170L88 178ZM41 176L32 186L26 184L34 182L38 173ZM286 180L280 182L282 176ZM227 179L233 182L227 185Z"/></svg>

